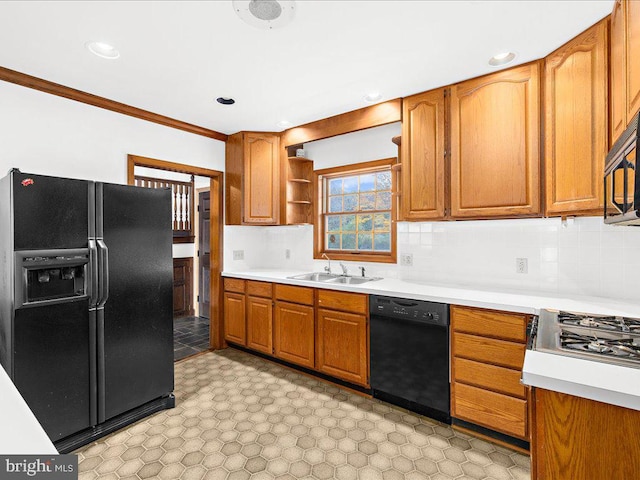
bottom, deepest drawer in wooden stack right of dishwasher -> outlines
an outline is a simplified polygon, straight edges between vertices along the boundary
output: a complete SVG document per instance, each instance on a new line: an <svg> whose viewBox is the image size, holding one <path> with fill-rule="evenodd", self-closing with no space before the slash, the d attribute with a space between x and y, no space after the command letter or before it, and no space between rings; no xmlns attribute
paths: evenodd
<svg viewBox="0 0 640 480"><path fill-rule="evenodd" d="M451 410L455 418L527 439L526 400L454 383Z"/></svg>

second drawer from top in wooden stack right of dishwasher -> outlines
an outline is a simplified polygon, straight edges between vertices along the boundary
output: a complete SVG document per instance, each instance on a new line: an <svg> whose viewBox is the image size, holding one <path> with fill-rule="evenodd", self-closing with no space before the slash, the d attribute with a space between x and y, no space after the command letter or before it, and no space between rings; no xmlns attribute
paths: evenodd
<svg viewBox="0 0 640 480"><path fill-rule="evenodd" d="M524 344L457 332L452 343L453 356L522 370Z"/></svg>

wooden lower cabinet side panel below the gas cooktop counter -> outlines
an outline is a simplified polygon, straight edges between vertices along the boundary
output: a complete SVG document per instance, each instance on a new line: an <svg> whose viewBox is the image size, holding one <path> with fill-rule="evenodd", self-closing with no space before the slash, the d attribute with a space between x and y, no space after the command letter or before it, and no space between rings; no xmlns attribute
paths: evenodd
<svg viewBox="0 0 640 480"><path fill-rule="evenodd" d="M531 478L638 478L640 411L543 389L534 396Z"/></svg>

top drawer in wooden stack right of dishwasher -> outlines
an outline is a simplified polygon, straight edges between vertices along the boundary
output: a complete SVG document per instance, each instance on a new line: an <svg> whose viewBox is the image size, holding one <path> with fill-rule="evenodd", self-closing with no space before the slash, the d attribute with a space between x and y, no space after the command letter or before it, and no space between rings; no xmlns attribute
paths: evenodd
<svg viewBox="0 0 640 480"><path fill-rule="evenodd" d="M451 307L451 326L456 332L525 343L527 341L527 320L528 316L524 314Z"/></svg>

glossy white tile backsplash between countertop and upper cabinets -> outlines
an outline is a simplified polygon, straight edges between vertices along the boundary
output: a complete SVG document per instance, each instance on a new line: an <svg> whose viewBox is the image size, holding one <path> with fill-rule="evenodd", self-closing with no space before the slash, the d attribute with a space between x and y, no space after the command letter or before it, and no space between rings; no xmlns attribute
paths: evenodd
<svg viewBox="0 0 640 480"><path fill-rule="evenodd" d="M225 227L224 268L322 270L313 259L313 227ZM233 260L244 250L243 260ZM289 258L286 251L289 250ZM400 266L411 254L412 266ZM527 273L516 259L527 259ZM527 293L636 298L640 228L601 217L398 223L398 264L345 262L349 271L434 284ZM337 262L332 269L340 271Z"/></svg>

